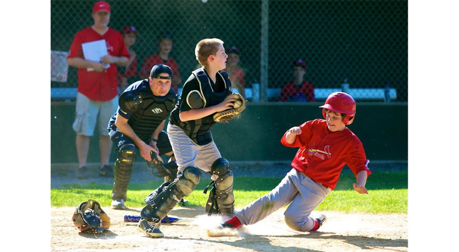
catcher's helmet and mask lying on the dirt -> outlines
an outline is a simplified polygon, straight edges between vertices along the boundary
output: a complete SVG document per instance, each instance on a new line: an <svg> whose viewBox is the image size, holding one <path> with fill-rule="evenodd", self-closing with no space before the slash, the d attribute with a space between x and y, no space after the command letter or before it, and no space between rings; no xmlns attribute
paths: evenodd
<svg viewBox="0 0 459 252"><path fill-rule="evenodd" d="M110 227L110 218L99 202L88 199L77 207L72 216L73 225L81 232L99 231Z"/></svg>

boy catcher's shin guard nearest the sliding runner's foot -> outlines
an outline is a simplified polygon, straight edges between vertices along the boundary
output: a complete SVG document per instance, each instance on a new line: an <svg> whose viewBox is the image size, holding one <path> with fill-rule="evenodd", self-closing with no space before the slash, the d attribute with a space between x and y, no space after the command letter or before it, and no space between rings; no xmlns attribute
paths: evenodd
<svg viewBox="0 0 459 252"><path fill-rule="evenodd" d="M234 214L234 194L233 173L230 171L230 163L225 158L219 158L210 169L212 174L218 176L218 179L211 183L213 189L209 193L206 212L209 215L221 213L232 217Z"/></svg>

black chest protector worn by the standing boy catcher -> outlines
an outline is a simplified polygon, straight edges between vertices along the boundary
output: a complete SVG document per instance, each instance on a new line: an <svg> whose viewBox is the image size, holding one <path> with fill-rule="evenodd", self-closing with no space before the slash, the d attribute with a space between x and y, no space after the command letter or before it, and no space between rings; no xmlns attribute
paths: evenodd
<svg viewBox="0 0 459 252"><path fill-rule="evenodd" d="M197 90L200 96L203 99L204 106L209 107L217 105L225 100L225 98L232 93L231 81L228 78L228 74L225 71L217 72L217 83L218 79L223 81L223 88L217 86L212 86L211 81L209 80L208 75L204 71L204 68L194 70L192 74L196 77L196 80L199 84L199 89ZM213 120L213 115L208 115L204 118L200 118L193 121L188 121L180 125L181 128L187 133L191 141L197 145L207 145L212 142L212 134L210 133L210 128L215 124Z"/></svg>

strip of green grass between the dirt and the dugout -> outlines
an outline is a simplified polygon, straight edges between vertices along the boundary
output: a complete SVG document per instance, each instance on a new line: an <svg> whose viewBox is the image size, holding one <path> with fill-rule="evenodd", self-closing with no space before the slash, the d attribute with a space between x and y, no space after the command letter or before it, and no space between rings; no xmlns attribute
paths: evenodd
<svg viewBox="0 0 459 252"><path fill-rule="evenodd" d="M234 181L236 208L242 208L273 189L282 178L237 177ZM187 197L191 206L204 206L208 195L202 191L210 179L202 179L197 188ZM366 212L366 213L408 213L408 171L374 172L367 181L369 195L359 194L352 189L354 174L343 172L338 185L317 210ZM143 199L160 182L130 184L128 202L131 208L145 206ZM87 199L95 199L103 206L109 206L112 186L104 184L72 184L66 189L50 190L50 205L55 207L76 207Z"/></svg>

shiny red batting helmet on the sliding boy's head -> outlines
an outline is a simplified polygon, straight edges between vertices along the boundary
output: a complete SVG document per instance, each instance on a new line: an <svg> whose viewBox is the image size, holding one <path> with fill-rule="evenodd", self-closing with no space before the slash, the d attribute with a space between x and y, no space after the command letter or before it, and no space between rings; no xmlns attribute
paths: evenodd
<svg viewBox="0 0 459 252"><path fill-rule="evenodd" d="M355 101L352 96L343 92L331 93L325 104L322 107L322 115L326 118L325 109L332 110L337 113L344 113L346 117L343 119L345 125L350 125L355 118Z"/></svg>

